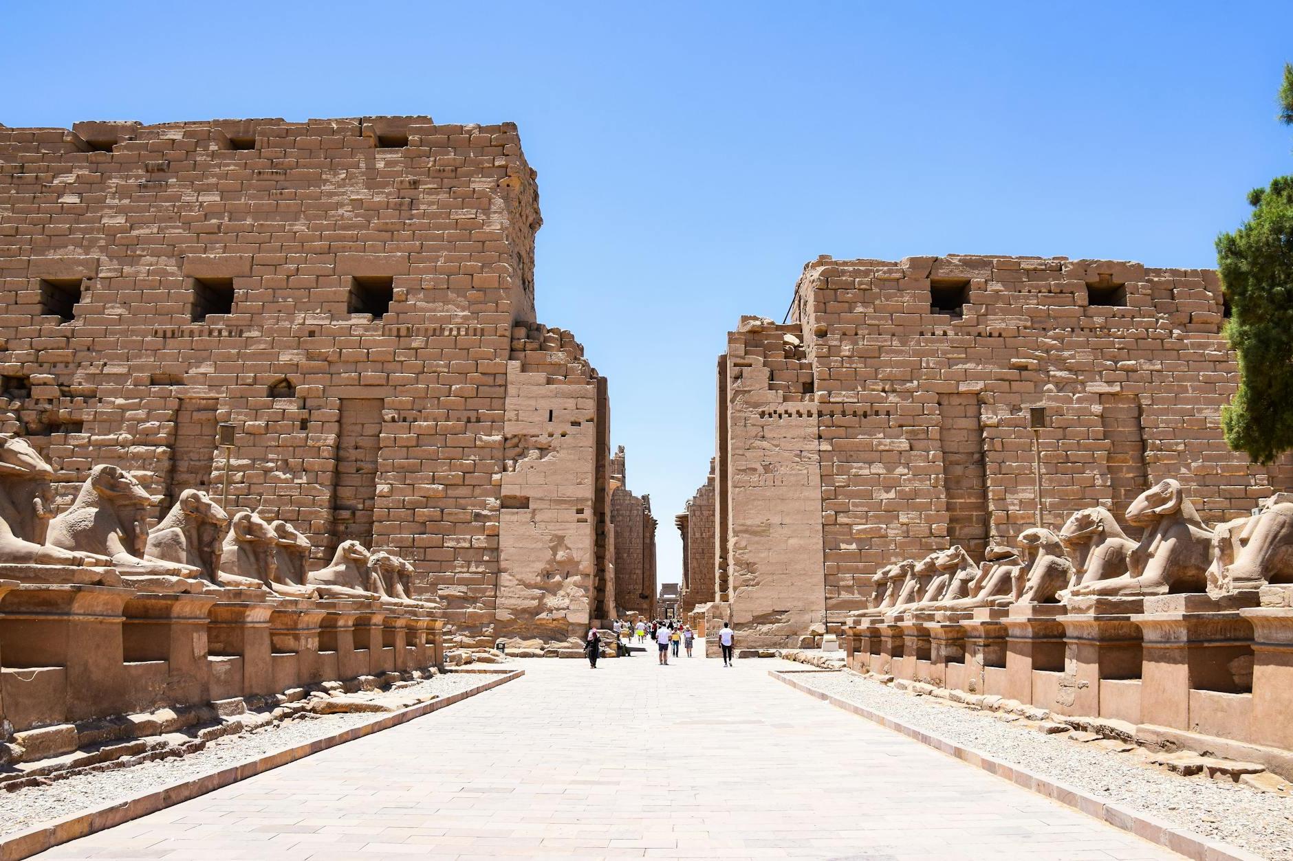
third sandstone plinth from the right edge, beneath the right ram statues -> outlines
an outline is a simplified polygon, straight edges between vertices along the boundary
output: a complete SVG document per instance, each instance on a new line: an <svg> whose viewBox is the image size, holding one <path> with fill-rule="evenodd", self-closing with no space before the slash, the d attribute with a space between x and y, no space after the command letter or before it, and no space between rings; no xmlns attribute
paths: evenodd
<svg viewBox="0 0 1293 861"><path fill-rule="evenodd" d="M1064 676L1049 703L1062 715L1140 720L1140 628L1131 617L1138 597L1071 597L1064 627ZM1120 684L1121 683L1121 684Z"/></svg>

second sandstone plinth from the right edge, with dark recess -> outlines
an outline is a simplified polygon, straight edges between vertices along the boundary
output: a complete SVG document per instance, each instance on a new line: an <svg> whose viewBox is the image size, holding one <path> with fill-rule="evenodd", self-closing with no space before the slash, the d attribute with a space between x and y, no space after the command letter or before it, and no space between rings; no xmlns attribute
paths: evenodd
<svg viewBox="0 0 1293 861"><path fill-rule="evenodd" d="M1140 723L1248 741L1257 591L1160 595L1134 615L1143 636Z"/></svg>

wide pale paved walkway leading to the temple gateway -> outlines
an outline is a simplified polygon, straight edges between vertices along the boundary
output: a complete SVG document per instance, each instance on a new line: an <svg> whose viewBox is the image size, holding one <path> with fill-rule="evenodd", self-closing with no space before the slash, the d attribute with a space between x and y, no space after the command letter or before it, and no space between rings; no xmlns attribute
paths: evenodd
<svg viewBox="0 0 1293 861"><path fill-rule="evenodd" d="M493 692L40 857L1178 857L769 679L781 662L518 663Z"/></svg>

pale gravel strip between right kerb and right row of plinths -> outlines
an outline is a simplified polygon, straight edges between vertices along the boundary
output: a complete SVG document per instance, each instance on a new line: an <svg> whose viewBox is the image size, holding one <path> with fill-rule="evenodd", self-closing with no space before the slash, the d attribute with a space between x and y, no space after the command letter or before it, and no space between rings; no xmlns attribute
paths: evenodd
<svg viewBox="0 0 1293 861"><path fill-rule="evenodd" d="M1138 759L1043 736L987 712L918 697L856 672L791 672L795 681L908 727L1020 765L1104 800L1134 807L1272 860L1293 860L1293 798L1206 777L1182 777Z"/></svg>

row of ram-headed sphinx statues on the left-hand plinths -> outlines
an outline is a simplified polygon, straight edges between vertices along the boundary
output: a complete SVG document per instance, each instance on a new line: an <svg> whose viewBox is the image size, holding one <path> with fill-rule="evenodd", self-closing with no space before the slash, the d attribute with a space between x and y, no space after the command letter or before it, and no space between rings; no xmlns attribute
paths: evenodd
<svg viewBox="0 0 1293 861"><path fill-rule="evenodd" d="M149 529L158 500L111 464L91 469L71 507L56 516L53 477L27 440L0 434L0 579L424 606L411 596L412 564L393 553L345 540L328 565L309 570L310 542L291 524L251 511L230 517L193 489Z"/></svg>

